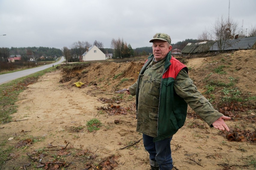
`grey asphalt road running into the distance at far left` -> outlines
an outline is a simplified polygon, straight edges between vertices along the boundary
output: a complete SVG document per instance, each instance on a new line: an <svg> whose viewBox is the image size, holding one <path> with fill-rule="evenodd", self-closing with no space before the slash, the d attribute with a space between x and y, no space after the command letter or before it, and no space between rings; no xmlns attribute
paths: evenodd
<svg viewBox="0 0 256 170"><path fill-rule="evenodd" d="M22 70L22 71L18 71L18 72L13 72L13 73L0 75L0 84L4 84L4 83L7 83L8 81L14 80L16 78L21 78L21 77L30 75L32 73L42 71L44 69L52 67L53 65L60 64L64 60L65 60L64 57L61 57L61 59L59 61L57 61L56 63L52 63L52 64L48 64L48 65L44 65L44 66L38 66L38 67L32 68L32 69L26 69L26 70Z"/></svg>

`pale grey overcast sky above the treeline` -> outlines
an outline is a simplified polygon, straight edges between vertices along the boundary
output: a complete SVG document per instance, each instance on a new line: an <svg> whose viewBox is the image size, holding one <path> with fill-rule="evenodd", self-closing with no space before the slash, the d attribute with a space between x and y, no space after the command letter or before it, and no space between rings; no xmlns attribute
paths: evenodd
<svg viewBox="0 0 256 170"><path fill-rule="evenodd" d="M95 40L111 48L118 38L132 48L151 46L155 33L172 43L197 39L218 17L228 18L229 0L0 0L0 47L70 48ZM256 0L230 0L239 28L256 26Z"/></svg>

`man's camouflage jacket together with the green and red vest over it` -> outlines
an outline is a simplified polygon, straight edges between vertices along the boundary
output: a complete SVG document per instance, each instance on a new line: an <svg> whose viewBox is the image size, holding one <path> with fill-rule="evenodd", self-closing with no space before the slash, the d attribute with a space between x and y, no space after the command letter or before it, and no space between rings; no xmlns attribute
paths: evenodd
<svg viewBox="0 0 256 170"><path fill-rule="evenodd" d="M172 136L184 125L187 103L208 125L222 116L197 91L187 67L170 53L148 73L153 57L148 58L138 81L129 87L131 95L136 94L137 131L155 137L154 141Z"/></svg>

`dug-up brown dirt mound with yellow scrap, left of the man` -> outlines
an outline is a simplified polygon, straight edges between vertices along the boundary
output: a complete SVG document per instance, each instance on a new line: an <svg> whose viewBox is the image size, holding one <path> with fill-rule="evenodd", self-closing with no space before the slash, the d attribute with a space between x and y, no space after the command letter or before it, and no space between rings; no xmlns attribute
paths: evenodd
<svg viewBox="0 0 256 170"><path fill-rule="evenodd" d="M60 82L82 82L84 86L98 85L105 89L117 90L130 86L138 78L138 72L144 62L131 61L125 63L102 62L82 64L73 67L63 67L63 76ZM117 87L118 86L118 87Z"/></svg>

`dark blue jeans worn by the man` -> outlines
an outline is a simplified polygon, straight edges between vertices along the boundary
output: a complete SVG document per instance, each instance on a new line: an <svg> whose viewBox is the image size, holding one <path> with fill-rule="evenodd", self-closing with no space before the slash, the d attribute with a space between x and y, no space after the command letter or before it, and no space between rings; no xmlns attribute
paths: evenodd
<svg viewBox="0 0 256 170"><path fill-rule="evenodd" d="M160 170L172 169L172 137L153 142L154 137L143 134L143 144L149 153L149 159L157 161Z"/></svg>

